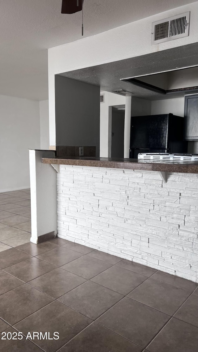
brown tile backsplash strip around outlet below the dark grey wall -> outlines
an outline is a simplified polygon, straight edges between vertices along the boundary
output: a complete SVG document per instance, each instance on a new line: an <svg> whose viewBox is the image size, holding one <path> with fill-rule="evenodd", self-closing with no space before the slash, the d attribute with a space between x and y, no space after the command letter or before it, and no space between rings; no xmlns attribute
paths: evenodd
<svg viewBox="0 0 198 352"><path fill-rule="evenodd" d="M80 156L79 148L80 146L57 145L56 156L62 157L62 158ZM83 148L84 148L83 156L95 157L95 146L83 146Z"/></svg>

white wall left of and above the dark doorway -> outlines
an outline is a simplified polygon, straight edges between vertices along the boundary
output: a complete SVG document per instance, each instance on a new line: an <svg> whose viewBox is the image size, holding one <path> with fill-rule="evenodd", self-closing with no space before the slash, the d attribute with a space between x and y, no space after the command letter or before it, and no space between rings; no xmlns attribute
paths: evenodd
<svg viewBox="0 0 198 352"><path fill-rule="evenodd" d="M100 157L107 158L109 140L109 106L124 105L126 98L123 95L110 92L100 92L100 94L104 94L105 96L104 103L100 103Z"/></svg>

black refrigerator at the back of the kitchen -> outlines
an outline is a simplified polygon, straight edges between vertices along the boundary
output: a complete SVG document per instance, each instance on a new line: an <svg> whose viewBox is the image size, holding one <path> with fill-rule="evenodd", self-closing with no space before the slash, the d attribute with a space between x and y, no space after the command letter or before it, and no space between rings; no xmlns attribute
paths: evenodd
<svg viewBox="0 0 198 352"><path fill-rule="evenodd" d="M184 118L173 114L132 116L130 158L138 153L186 153Z"/></svg>

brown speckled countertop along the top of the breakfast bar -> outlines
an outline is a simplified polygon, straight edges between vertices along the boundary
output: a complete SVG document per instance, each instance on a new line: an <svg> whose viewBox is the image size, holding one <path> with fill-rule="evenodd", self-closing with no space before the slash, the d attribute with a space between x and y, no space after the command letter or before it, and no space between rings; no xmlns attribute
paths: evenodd
<svg viewBox="0 0 198 352"><path fill-rule="evenodd" d="M139 161L138 159L92 158L92 157L45 157L44 164L100 166L111 169L186 172L198 174L198 162Z"/></svg>

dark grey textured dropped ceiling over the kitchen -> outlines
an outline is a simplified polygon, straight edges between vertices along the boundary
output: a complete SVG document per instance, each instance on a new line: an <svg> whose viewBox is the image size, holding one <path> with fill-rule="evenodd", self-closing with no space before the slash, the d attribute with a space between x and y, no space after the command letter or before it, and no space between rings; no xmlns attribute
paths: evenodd
<svg viewBox="0 0 198 352"><path fill-rule="evenodd" d="M183 96L186 93L163 95L137 87L129 82L120 81L120 79L196 66L198 65L197 53L198 43L193 43L152 54L70 71L62 73L60 76L100 86L101 90L106 90L107 92L123 89L138 98L148 100L170 99L176 96ZM197 70L195 75L197 75Z"/></svg>

